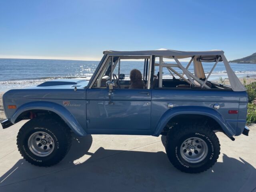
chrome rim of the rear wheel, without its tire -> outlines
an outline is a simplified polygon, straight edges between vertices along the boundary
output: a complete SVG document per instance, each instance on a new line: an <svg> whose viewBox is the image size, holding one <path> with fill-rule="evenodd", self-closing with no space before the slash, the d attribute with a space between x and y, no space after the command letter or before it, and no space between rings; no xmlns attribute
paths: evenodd
<svg viewBox="0 0 256 192"><path fill-rule="evenodd" d="M208 154L206 142L198 137L191 137L182 142L180 146L182 158L189 163L198 163Z"/></svg>

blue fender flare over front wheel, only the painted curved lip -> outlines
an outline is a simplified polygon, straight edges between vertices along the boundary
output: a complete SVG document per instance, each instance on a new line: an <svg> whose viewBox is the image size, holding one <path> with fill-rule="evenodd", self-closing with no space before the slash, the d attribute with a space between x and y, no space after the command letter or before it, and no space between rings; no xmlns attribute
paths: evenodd
<svg viewBox="0 0 256 192"><path fill-rule="evenodd" d="M70 129L77 134L78 136L85 136L86 132L77 122L76 118L63 106L56 104L54 102L45 102L45 101L36 101L36 102L29 102L20 106L13 116L10 118L10 121L14 124L18 116L25 111L28 110L47 110L52 111L70 127Z"/></svg>

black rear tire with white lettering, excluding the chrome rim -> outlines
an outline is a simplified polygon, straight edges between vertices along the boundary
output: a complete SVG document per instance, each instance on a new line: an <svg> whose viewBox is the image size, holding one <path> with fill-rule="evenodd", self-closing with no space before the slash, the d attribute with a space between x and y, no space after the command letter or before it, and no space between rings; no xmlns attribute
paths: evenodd
<svg viewBox="0 0 256 192"><path fill-rule="evenodd" d="M207 144L206 157L198 163L191 163L181 156L181 145L188 138L200 138ZM198 123L181 124L171 128L166 137L166 154L174 167L186 173L200 173L211 168L220 154L220 142L209 125Z"/></svg>

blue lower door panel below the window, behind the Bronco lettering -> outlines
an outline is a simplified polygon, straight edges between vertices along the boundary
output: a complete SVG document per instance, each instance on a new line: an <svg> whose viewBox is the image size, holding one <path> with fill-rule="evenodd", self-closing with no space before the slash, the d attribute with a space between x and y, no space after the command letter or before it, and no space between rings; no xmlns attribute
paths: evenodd
<svg viewBox="0 0 256 192"><path fill-rule="evenodd" d="M90 134L150 134L151 90L92 88L86 92Z"/></svg>

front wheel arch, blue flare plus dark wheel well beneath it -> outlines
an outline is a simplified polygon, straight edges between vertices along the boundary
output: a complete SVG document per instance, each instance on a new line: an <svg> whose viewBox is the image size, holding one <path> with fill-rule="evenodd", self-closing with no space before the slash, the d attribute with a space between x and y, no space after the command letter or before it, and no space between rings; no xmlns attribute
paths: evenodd
<svg viewBox="0 0 256 192"><path fill-rule="evenodd" d="M85 136L86 132L78 123L76 118L63 106L56 104L54 102L29 102L20 106L13 116L10 118L10 121L15 124L23 119L30 119L29 115L31 114L51 114L51 116L55 116L63 120L69 128L78 136Z"/></svg>

